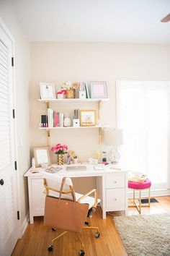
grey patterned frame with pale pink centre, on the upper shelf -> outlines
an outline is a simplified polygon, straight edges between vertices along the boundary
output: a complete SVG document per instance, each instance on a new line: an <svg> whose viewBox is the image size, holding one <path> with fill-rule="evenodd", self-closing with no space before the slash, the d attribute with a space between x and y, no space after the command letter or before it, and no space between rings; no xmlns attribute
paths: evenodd
<svg viewBox="0 0 170 256"><path fill-rule="evenodd" d="M91 82L91 98L107 98L106 82Z"/></svg>

